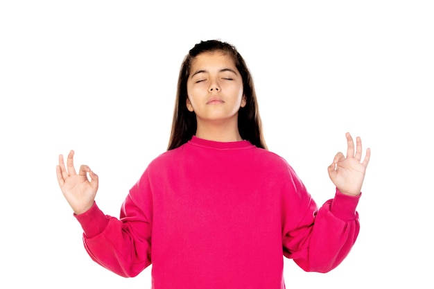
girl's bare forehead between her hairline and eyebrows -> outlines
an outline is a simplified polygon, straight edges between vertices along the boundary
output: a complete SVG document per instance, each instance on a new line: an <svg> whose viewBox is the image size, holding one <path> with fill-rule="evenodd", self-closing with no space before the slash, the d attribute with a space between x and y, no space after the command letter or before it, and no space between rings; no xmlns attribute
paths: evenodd
<svg viewBox="0 0 434 289"><path fill-rule="evenodd" d="M190 72L200 70L209 70L215 67L235 69L235 62L232 57L223 51L204 52L193 58Z"/></svg>

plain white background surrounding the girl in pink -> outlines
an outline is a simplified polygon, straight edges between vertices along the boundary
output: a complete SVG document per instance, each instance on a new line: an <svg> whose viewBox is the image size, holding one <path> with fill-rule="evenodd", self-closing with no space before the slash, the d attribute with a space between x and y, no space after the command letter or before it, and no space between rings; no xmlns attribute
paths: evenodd
<svg viewBox="0 0 434 289"><path fill-rule="evenodd" d="M217 38L245 58L268 147L318 204L345 132L372 149L356 245L327 274L286 260L287 288L433 288L430 3L1 1L0 287L150 288L151 268L124 279L87 256L55 165L76 150L118 216L166 150L184 55Z"/></svg>

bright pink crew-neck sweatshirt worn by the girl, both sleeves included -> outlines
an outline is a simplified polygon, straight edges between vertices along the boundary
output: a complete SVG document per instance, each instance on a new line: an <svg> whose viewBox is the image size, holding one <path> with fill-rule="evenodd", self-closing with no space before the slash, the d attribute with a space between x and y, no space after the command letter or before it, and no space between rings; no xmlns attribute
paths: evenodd
<svg viewBox="0 0 434 289"><path fill-rule="evenodd" d="M96 204L76 218L94 261L123 277L152 263L153 289L282 289L283 256L316 272L345 259L359 198L318 209L278 155L193 137L149 164L119 219Z"/></svg>

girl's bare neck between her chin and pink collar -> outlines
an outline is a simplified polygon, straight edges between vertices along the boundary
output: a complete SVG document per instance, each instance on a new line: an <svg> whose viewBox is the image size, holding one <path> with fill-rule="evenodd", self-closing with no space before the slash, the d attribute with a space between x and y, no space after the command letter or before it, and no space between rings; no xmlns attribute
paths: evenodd
<svg viewBox="0 0 434 289"><path fill-rule="evenodd" d="M202 123L198 122L198 129L196 130L196 137L200 139L207 139L209 141L242 141L240 132L238 131L238 124L223 125L222 123Z"/></svg>

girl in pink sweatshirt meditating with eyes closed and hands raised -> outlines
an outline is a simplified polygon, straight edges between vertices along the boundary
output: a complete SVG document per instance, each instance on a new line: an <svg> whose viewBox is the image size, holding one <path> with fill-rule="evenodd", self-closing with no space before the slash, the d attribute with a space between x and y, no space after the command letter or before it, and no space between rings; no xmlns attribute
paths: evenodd
<svg viewBox="0 0 434 289"><path fill-rule="evenodd" d="M329 166L334 198L318 208L293 168L267 150L252 76L236 48L210 40L186 55L168 150L132 186L120 218L95 202L98 176L73 150L60 189L96 263L160 288L285 288L283 256L329 272L354 245L370 149L349 133ZM90 179L87 177L89 175Z"/></svg>

